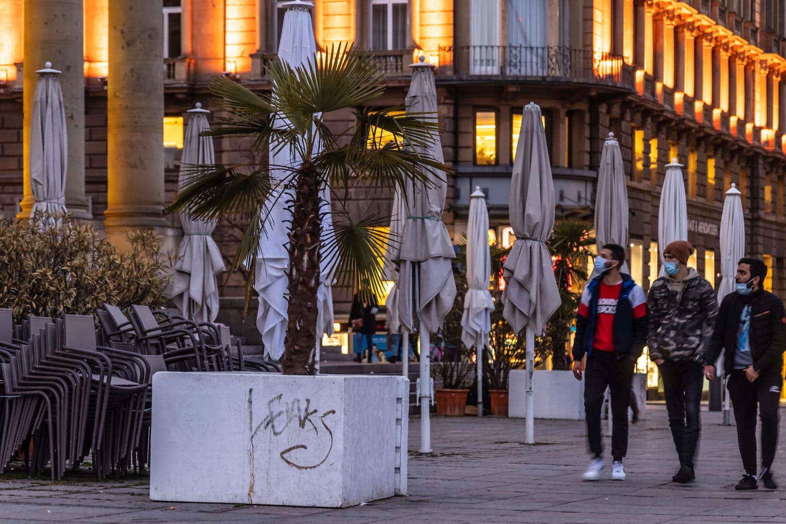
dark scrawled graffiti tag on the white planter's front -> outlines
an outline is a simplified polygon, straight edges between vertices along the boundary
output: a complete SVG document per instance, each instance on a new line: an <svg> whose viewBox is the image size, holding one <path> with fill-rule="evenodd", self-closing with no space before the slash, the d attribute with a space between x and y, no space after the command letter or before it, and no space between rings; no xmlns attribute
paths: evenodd
<svg viewBox="0 0 786 524"><path fill-rule="evenodd" d="M252 403L251 391L249 391L249 404ZM318 414L318 409L312 409L310 398L284 398L284 394L277 394L267 401L266 416L255 428L251 423L252 431L252 445L254 438L259 431L270 431L274 437L278 437L285 431L289 430L289 434L300 435L309 434L314 432L314 437L309 445L296 444L288 446L280 453L281 460L289 466L295 467L299 470L311 470L325 464L328 460L330 452L333 449L333 432L330 429L328 422L331 415L336 414L335 409L328 409ZM249 412L249 416L252 413ZM310 435L308 435L310 436ZM301 453L295 453L297 450L310 451L311 456L317 458L307 460Z"/></svg>

